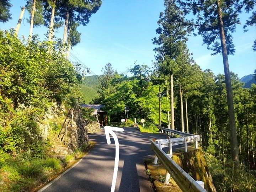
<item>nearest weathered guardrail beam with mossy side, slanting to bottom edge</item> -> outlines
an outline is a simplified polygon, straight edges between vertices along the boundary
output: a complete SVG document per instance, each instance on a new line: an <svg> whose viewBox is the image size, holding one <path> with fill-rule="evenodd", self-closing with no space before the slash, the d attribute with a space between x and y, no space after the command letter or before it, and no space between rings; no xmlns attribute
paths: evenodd
<svg viewBox="0 0 256 192"><path fill-rule="evenodd" d="M159 142L161 144L161 142ZM180 187L182 191L185 192L207 192L203 187L201 187L190 175L188 175L180 166L178 166L174 160L171 159L155 142L151 141L151 149L154 151L156 156L165 166L165 182L166 178L170 178L170 175ZM168 172L168 174L167 174Z"/></svg>

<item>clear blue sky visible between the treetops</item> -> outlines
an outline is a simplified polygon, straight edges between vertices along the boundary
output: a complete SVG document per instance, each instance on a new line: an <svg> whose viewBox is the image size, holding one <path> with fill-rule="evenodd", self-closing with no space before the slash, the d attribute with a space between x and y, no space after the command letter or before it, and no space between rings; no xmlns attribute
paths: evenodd
<svg viewBox="0 0 256 192"><path fill-rule="evenodd" d="M12 20L0 23L0 29L6 30L16 27L20 10L25 0L11 0ZM101 68L110 62L119 73L124 73L133 62L152 66L155 47L151 39L156 36L155 29L161 11L164 11L162 0L105 0L98 12L90 18L87 26L80 26L81 43L71 50L95 74L101 74ZM29 16L26 11L26 17ZM249 17L240 15L241 24ZM24 20L20 27L19 36L28 36L29 23ZM252 51L252 44L256 38L256 28L249 27L244 33L242 25L237 26L233 34L236 48L235 55L229 55L230 70L241 78L254 73L256 69L256 53ZM33 34L39 34L44 39L45 27L33 29ZM55 33L63 37L63 28ZM204 69L211 69L215 74L224 73L222 55L210 55L205 45L202 46L201 36L189 37L187 46L193 53L197 64ZM70 60L74 58L70 57Z"/></svg>

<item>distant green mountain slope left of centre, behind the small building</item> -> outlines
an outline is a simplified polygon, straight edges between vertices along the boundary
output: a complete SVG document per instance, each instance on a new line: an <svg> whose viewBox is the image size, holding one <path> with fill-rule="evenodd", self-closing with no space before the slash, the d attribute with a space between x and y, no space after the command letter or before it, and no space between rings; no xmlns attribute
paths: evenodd
<svg viewBox="0 0 256 192"><path fill-rule="evenodd" d="M80 91L84 96L84 104L89 104L97 95L99 77L99 75L91 75L83 78Z"/></svg>

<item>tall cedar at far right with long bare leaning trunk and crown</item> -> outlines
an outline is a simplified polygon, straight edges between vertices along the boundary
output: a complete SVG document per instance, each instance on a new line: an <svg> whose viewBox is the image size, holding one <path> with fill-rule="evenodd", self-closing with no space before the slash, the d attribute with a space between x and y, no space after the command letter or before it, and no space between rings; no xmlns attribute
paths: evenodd
<svg viewBox="0 0 256 192"><path fill-rule="evenodd" d="M212 55L222 53L226 92L228 98L229 126L231 140L231 158L235 162L235 170L239 169L238 142L235 125L234 102L229 71L228 55L234 54L235 48L231 33L239 24L238 14L241 12L242 4L239 0L177 0L185 14L191 12L196 15L187 23L198 30L203 37L203 43L207 48L213 50Z"/></svg>

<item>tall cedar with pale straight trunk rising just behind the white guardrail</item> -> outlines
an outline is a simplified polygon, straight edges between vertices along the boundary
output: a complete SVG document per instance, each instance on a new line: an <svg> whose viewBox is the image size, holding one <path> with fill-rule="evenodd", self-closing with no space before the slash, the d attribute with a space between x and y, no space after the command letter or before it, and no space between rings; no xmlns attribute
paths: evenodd
<svg viewBox="0 0 256 192"><path fill-rule="evenodd" d="M185 29L183 23L184 17L180 9L176 6L175 0L165 0L164 2L165 12L161 12L158 20L159 28L156 29L156 33L159 34L158 38L154 38L153 44L159 45L160 47L154 48L156 55L156 60L161 65L164 58L167 56L168 60L174 60L178 55L183 54L183 49L187 41L186 35L187 30ZM186 47L186 46L185 46ZM174 101L173 101L173 73L174 67L173 62L167 62L167 68L165 75L170 76L171 84L171 128L174 129ZM164 64L164 65L165 65ZM160 67L161 68L161 67ZM162 71L162 72L164 72ZM181 95L182 96L182 95ZM181 98L182 102L182 98ZM181 110L183 113L183 110ZM182 115L183 119L183 115ZM183 121L182 121L183 125ZM182 131L184 131L184 126L182 126Z"/></svg>

